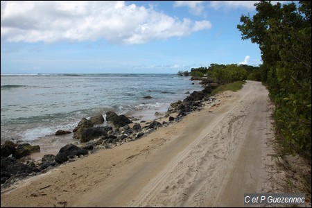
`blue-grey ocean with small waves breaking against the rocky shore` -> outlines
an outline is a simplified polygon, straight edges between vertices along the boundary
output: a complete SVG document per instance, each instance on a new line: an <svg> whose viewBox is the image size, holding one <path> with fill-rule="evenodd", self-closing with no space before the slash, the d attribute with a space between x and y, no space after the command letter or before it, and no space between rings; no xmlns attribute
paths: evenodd
<svg viewBox="0 0 312 208"><path fill-rule="evenodd" d="M42 141L58 142L55 132L72 131L83 117L105 116L108 110L153 116L201 89L198 81L176 74L1 74L1 144L11 140L49 149L52 144Z"/></svg>

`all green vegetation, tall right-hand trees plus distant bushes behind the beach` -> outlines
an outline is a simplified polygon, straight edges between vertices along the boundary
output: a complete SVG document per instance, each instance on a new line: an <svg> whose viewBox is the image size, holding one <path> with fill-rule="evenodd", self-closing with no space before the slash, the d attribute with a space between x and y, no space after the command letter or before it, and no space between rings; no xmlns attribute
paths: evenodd
<svg viewBox="0 0 312 208"><path fill-rule="evenodd" d="M279 152L278 164L298 184L286 177L287 190L300 189L311 194L311 171L306 173L289 160L288 155L299 155L311 169L311 1L272 5L270 1L255 3L257 13L241 15L237 25L242 40L259 44L263 63L259 67L246 64L210 64L192 68L192 79L218 83L211 94L227 89L235 91L243 80L261 81L275 105L272 119ZM298 157L294 157L298 158ZM302 163L303 164L303 163ZM291 183L289 183L291 182ZM296 183L296 182L295 182ZM298 190L297 189L297 190Z"/></svg>

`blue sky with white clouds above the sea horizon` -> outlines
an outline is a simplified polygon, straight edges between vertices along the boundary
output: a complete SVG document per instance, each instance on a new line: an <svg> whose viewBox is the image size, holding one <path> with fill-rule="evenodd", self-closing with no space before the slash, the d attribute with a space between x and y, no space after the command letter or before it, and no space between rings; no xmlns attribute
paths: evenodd
<svg viewBox="0 0 312 208"><path fill-rule="evenodd" d="M258 66L259 46L237 29L256 2L1 1L1 74Z"/></svg>

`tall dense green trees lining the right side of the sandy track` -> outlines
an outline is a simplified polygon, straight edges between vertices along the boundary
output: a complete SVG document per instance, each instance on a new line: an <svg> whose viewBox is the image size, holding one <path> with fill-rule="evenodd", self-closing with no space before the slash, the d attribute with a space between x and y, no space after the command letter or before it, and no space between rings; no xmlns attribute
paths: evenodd
<svg viewBox="0 0 312 208"><path fill-rule="evenodd" d="M263 64L250 73L275 103L277 139L285 153L311 162L311 1L254 4L257 14L241 16L243 40L259 44Z"/></svg>

